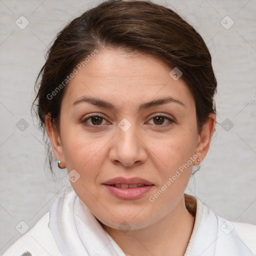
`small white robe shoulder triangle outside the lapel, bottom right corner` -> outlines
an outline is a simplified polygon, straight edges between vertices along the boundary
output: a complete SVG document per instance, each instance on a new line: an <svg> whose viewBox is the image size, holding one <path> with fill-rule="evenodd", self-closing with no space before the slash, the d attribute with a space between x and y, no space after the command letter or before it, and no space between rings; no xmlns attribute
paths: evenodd
<svg viewBox="0 0 256 256"><path fill-rule="evenodd" d="M230 223L249 249L256 253L256 225L235 221L230 221Z"/></svg>

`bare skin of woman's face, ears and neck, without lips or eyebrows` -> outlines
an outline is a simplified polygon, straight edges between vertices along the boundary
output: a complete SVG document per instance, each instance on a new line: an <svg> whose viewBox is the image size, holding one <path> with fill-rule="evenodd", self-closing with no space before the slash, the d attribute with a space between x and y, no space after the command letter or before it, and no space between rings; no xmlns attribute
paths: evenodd
<svg viewBox="0 0 256 256"><path fill-rule="evenodd" d="M170 70L150 55L105 48L65 88L59 133L45 117L54 155L68 172L75 169L80 174L71 182L77 196L133 256L185 252L194 217L185 208L183 193L192 165L200 162L193 160L154 202L149 196L196 152L202 161L214 131L215 115L210 114L198 133L193 97L181 78L169 75ZM83 96L109 101L116 109L89 102L73 105ZM168 102L138 110L141 103L167 96L184 106ZM91 113L104 118L89 118L86 126L82 121ZM162 114L174 122L153 118ZM123 118L131 124L126 131L118 126ZM144 178L154 186L138 199L116 198L102 183L118 176ZM128 223L125 232L118 229L123 221Z"/></svg>

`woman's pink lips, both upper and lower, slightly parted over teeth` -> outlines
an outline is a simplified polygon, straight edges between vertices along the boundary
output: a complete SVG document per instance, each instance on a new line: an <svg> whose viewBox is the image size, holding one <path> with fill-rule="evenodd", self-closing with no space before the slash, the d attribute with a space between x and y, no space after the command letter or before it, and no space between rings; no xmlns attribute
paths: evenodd
<svg viewBox="0 0 256 256"><path fill-rule="evenodd" d="M142 197L154 186L150 181L139 177L116 177L102 185L115 197L129 200Z"/></svg>

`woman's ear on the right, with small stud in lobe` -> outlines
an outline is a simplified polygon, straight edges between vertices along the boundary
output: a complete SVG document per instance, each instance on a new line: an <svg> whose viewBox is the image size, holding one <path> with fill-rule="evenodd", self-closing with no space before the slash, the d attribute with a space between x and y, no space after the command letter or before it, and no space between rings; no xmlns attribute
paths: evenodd
<svg viewBox="0 0 256 256"><path fill-rule="evenodd" d="M215 120L216 120L215 114L210 113L207 122L203 125L200 134L198 134L195 152L199 151L201 153L200 155L198 154L198 158L200 159L200 161L199 162L194 161L193 165L200 164L200 162L204 159L204 157L208 152L211 137L215 128Z"/></svg>

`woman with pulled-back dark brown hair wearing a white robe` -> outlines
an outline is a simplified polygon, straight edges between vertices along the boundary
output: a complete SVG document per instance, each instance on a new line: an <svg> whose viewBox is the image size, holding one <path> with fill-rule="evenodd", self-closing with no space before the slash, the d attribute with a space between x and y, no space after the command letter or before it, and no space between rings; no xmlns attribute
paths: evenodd
<svg viewBox="0 0 256 256"><path fill-rule="evenodd" d="M255 226L184 194L214 132L216 79L177 13L103 2L57 35L38 77L37 114L71 188L5 256L253 255Z"/></svg>

